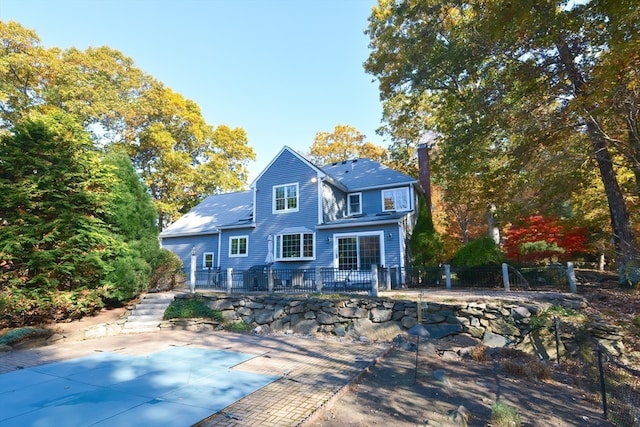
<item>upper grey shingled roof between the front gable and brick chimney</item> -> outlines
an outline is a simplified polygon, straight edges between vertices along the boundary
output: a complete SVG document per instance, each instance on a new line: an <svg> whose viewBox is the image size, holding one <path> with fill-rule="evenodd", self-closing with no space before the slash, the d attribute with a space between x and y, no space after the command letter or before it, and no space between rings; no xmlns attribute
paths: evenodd
<svg viewBox="0 0 640 427"><path fill-rule="evenodd" d="M347 187L348 191L398 187L417 182L409 175L364 158L331 163L324 166L322 170Z"/></svg>

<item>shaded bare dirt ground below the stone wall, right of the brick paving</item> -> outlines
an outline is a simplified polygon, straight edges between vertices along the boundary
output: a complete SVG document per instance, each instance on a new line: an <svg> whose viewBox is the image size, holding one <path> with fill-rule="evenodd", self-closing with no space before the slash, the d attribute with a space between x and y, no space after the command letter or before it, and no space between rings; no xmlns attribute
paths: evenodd
<svg viewBox="0 0 640 427"><path fill-rule="evenodd" d="M490 426L498 400L517 408L525 426L612 425L602 418L598 396L559 370L546 381L514 378L494 361L445 360L433 347L455 343L421 345L417 370L416 352L396 347L313 426Z"/></svg>

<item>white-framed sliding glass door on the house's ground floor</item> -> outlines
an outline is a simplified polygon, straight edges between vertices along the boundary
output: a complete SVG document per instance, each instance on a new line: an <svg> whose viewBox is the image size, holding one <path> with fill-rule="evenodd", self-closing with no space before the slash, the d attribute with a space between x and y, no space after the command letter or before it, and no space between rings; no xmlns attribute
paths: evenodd
<svg viewBox="0 0 640 427"><path fill-rule="evenodd" d="M338 237L338 269L367 270L382 265L380 234Z"/></svg>

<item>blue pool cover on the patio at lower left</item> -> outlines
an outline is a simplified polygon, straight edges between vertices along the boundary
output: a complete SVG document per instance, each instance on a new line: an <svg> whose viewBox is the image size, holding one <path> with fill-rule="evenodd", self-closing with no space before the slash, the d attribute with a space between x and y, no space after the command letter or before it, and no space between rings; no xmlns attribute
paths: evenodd
<svg viewBox="0 0 640 427"><path fill-rule="evenodd" d="M230 369L253 357L175 347L2 374L0 426L189 426L279 378Z"/></svg>

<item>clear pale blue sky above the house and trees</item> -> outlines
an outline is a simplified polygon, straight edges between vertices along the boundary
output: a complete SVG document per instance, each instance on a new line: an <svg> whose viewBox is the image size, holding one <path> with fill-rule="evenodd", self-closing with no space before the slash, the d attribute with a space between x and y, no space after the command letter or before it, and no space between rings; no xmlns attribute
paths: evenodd
<svg viewBox="0 0 640 427"><path fill-rule="evenodd" d="M354 126L367 140L382 109L362 63L375 0L0 0L0 19L45 47L109 46L195 101L210 125L247 131L253 180L284 145Z"/></svg>

